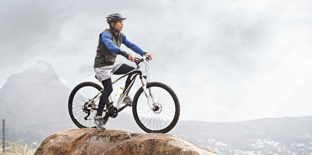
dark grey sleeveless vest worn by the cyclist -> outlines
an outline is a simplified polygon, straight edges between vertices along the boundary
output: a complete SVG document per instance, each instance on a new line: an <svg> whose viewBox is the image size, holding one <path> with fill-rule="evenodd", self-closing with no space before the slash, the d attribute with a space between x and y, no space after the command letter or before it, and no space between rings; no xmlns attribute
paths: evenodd
<svg viewBox="0 0 312 155"><path fill-rule="evenodd" d="M121 32L119 32L118 35L117 35L118 41L117 41L115 32L111 28L105 29L103 32L110 33L110 36L111 36L111 39L112 39L113 43L118 48L120 48L121 42L122 42L122 38L124 37ZM99 67L112 65L112 64L115 63L116 58L117 58L117 54L111 52L106 47L106 45L101 42L101 40L99 38L99 45L98 45L97 50L96 50L96 56L95 56L94 66L93 67L94 68L99 68Z"/></svg>

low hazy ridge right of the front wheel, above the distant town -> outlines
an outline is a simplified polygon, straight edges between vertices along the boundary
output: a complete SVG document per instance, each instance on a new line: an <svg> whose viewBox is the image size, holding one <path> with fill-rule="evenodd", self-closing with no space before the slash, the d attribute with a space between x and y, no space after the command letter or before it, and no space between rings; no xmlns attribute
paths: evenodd
<svg viewBox="0 0 312 155"><path fill-rule="evenodd" d="M270 139L284 145L312 142L312 116L263 118L241 122L217 123L179 121L170 134L190 141L215 139L233 148L246 143Z"/></svg>

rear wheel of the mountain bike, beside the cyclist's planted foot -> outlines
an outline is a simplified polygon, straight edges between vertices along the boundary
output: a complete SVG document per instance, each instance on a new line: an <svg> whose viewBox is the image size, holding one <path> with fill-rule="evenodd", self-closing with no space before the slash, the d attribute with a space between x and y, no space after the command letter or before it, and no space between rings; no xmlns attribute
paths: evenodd
<svg viewBox="0 0 312 155"><path fill-rule="evenodd" d="M92 100L100 91L102 87L94 82L82 82L78 84L71 92L68 99L68 111L71 116L71 120L76 124L78 128L96 128L93 120L96 115L96 110L86 109L86 104ZM97 98L99 98L97 96ZM95 100L97 99L95 98ZM108 99L104 109L110 104ZM99 101L89 104L88 107L98 108ZM105 115L108 112L105 113ZM105 119L104 125L106 124L109 117Z"/></svg>

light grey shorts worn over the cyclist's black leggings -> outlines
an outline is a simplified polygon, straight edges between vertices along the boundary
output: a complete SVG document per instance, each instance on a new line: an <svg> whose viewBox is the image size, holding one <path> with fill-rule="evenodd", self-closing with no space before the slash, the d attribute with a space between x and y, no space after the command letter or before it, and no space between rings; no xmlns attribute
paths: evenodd
<svg viewBox="0 0 312 155"><path fill-rule="evenodd" d="M99 82L110 78L113 73L122 65L122 63L114 63L110 66L104 66L100 68L94 68L96 77L98 78Z"/></svg>

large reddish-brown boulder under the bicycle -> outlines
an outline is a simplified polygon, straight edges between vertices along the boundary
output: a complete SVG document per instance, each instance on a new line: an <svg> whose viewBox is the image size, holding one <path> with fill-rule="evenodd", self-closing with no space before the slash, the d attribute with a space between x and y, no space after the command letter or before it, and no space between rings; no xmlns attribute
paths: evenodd
<svg viewBox="0 0 312 155"><path fill-rule="evenodd" d="M41 154L204 154L215 152L172 134L139 134L94 128L63 130L46 138Z"/></svg>

